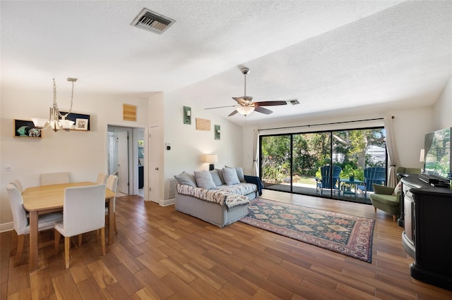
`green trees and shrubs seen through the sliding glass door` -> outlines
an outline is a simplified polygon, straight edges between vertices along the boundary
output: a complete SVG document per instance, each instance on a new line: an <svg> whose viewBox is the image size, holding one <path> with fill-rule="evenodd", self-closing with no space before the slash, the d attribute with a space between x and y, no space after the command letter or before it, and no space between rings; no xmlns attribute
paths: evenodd
<svg viewBox="0 0 452 300"><path fill-rule="evenodd" d="M386 166L384 129L370 128L261 137L261 179L265 185L299 182L316 185L323 165L339 165L341 178L364 180L364 168ZM292 142L291 142L292 139ZM292 151L291 151L292 145Z"/></svg>

